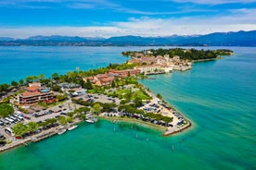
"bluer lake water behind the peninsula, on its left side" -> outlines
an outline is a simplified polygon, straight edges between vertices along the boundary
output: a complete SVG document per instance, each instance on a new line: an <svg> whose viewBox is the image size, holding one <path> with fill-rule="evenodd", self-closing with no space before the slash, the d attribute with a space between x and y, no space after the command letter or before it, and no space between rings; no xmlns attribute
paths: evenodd
<svg viewBox="0 0 256 170"><path fill-rule="evenodd" d="M65 74L77 67L88 70L125 62L127 58L120 55L122 48L113 48L0 46L0 83L40 74L50 78L53 73Z"/></svg>

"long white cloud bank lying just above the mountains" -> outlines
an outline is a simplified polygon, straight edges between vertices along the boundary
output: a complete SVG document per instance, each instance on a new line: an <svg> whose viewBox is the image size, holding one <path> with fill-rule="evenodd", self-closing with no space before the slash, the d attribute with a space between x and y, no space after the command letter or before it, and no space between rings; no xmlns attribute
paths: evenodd
<svg viewBox="0 0 256 170"><path fill-rule="evenodd" d="M215 31L256 30L256 9L237 9L229 16L186 18L130 18L128 21L103 23L90 27L1 28L0 37L26 38L33 35L70 35L111 37L121 35L168 36L207 34Z"/></svg>

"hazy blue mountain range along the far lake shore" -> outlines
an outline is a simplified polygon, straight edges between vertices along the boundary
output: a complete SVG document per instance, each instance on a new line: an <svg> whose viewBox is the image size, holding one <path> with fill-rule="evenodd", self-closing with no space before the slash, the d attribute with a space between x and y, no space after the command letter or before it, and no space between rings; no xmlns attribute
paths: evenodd
<svg viewBox="0 0 256 170"><path fill-rule="evenodd" d="M181 36L173 35L168 37L140 37L140 36L121 36L104 39L101 37L70 37L70 36L33 36L28 39L13 39L0 37L0 45L33 45L33 46L99 46L99 45L145 45L145 46L256 46L256 30L237 31L237 32L214 32L207 35Z"/></svg>

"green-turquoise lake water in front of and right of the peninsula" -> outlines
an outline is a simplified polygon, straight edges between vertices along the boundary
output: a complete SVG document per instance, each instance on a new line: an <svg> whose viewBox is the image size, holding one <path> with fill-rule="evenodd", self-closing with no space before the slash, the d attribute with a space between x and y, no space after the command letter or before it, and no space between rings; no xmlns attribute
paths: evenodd
<svg viewBox="0 0 256 170"><path fill-rule="evenodd" d="M109 54L125 48L147 47ZM141 80L193 121L186 132L163 138L157 129L100 120L3 152L0 169L256 169L256 48L232 49L236 55L190 71Z"/></svg>

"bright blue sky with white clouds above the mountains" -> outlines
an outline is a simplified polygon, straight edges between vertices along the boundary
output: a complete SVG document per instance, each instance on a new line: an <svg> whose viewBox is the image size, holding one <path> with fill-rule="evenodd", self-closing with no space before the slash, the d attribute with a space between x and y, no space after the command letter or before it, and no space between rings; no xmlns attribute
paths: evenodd
<svg viewBox="0 0 256 170"><path fill-rule="evenodd" d="M256 30L256 0L0 0L0 37Z"/></svg>

